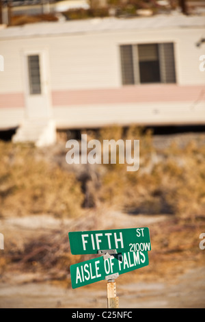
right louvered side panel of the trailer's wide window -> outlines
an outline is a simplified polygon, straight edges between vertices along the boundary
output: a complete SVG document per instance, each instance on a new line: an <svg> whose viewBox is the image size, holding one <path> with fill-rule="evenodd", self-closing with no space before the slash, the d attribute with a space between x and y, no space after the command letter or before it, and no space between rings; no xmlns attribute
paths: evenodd
<svg viewBox="0 0 205 322"><path fill-rule="evenodd" d="M162 83L176 83L174 44L159 44L160 74Z"/></svg>

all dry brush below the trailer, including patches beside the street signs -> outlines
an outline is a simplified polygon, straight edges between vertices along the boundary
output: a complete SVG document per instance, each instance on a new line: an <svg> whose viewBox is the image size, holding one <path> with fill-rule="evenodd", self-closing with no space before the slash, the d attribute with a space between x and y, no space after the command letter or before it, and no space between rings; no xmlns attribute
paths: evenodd
<svg viewBox="0 0 205 322"><path fill-rule="evenodd" d="M139 139L139 171L128 173L126 164L118 163L90 165L79 171L66 164L66 141L63 148L45 151L1 141L0 219L49 214L70 219L72 231L100 229L96 222L106 209L118 210L116 216L120 212L167 214L169 219L152 225L148 273L174 276L181 270L179 263L185 268L202 262L198 238L205 219L204 135L186 142L178 136L169 145L156 146L152 132L135 126L86 133L88 140L101 142ZM22 238L18 231L11 232L10 245L0 260L0 277L17 270L40 273L36 280L68 283L70 264L88 259L70 254L64 225L55 230L45 227L38 235L33 230L31 236L20 230Z"/></svg>

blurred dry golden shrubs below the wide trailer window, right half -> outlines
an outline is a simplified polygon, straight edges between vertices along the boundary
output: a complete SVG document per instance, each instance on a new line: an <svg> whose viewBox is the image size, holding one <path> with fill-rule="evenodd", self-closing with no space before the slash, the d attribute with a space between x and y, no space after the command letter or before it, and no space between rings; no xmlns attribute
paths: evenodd
<svg viewBox="0 0 205 322"><path fill-rule="evenodd" d="M136 214L204 214L204 145L190 140L180 147L178 140L166 149L156 149L152 133L135 126L126 132L119 127L105 129L100 135L115 140L140 140L139 171L128 173L126 164L104 165L107 171L98 193L100 201Z"/></svg>

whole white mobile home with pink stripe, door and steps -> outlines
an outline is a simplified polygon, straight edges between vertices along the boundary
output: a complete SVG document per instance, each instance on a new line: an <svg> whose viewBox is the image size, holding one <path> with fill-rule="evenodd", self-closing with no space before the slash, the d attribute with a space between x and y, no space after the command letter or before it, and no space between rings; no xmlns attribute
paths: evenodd
<svg viewBox="0 0 205 322"><path fill-rule="evenodd" d="M0 129L44 145L55 129L204 124L204 35L181 14L3 28Z"/></svg>

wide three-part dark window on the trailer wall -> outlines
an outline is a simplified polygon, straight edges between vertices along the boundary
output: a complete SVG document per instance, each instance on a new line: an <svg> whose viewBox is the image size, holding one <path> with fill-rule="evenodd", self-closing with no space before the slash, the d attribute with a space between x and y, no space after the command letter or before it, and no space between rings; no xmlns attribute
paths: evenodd
<svg viewBox="0 0 205 322"><path fill-rule="evenodd" d="M176 83L174 44L120 46L122 84Z"/></svg>

